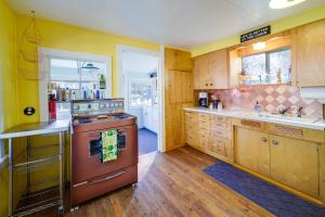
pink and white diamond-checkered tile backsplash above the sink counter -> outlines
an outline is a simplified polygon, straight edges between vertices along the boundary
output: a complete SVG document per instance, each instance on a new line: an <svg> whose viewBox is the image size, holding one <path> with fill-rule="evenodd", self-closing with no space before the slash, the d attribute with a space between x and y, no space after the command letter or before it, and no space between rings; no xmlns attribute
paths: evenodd
<svg viewBox="0 0 325 217"><path fill-rule="evenodd" d="M199 91L197 91L199 92ZM302 106L302 113L308 116L322 116L322 103L324 100L309 100L300 97L297 87L285 85L251 86L226 90L208 90L209 100L211 94L219 95L223 106L227 110L252 110L257 101L260 102L262 111L276 112L277 107ZM196 94L197 95L197 94Z"/></svg>

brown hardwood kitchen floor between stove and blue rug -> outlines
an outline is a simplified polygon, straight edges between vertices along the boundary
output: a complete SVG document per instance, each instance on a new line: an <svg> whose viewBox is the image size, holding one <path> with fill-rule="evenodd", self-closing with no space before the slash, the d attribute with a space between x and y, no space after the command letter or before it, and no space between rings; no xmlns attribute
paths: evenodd
<svg viewBox="0 0 325 217"><path fill-rule="evenodd" d="M136 187L108 193L65 216L272 216L203 173L216 162L190 146L143 155Z"/></svg>

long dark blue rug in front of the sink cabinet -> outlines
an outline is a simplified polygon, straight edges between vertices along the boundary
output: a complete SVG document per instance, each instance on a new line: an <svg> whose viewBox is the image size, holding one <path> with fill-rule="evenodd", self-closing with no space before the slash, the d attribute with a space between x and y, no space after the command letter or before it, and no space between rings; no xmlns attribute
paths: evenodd
<svg viewBox="0 0 325 217"><path fill-rule="evenodd" d="M275 216L325 217L325 208L309 203L223 162L209 166L204 171Z"/></svg>

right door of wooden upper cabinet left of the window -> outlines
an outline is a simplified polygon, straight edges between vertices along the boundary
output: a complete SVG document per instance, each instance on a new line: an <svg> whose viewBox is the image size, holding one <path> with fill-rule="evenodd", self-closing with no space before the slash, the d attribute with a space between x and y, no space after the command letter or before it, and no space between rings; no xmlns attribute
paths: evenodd
<svg viewBox="0 0 325 217"><path fill-rule="evenodd" d="M226 89L229 87L227 53L225 49L209 54L209 89Z"/></svg>

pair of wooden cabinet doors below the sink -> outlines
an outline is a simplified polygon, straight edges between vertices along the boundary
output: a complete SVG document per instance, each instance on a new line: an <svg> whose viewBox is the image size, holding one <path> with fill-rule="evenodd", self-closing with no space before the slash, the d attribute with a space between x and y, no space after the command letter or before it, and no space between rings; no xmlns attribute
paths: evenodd
<svg viewBox="0 0 325 217"><path fill-rule="evenodd" d="M237 127L235 162L320 197L320 144Z"/></svg>

